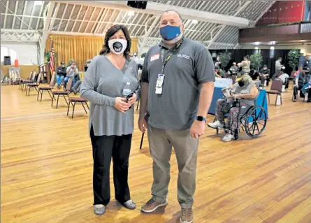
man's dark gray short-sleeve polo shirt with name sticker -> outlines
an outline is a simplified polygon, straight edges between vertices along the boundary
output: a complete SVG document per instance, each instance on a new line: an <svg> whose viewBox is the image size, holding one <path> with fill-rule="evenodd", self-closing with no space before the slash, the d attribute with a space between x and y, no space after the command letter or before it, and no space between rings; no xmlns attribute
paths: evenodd
<svg viewBox="0 0 311 223"><path fill-rule="evenodd" d="M161 42L145 56L141 80L149 83L148 124L159 129L189 129L198 110L201 84L215 81L214 63L204 45L185 38L165 66L162 94L155 94L169 52Z"/></svg>

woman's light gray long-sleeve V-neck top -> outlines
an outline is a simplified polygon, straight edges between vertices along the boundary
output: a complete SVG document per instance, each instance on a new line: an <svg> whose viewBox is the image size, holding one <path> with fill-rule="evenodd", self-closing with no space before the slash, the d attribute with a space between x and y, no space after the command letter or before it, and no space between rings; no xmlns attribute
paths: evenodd
<svg viewBox="0 0 311 223"><path fill-rule="evenodd" d="M133 134L133 107L122 113L117 110L115 98L122 97L126 82L131 91L140 96L137 64L126 60L122 70L104 56L96 56L87 69L80 87L80 96L90 102L89 130L93 125L95 136L122 136Z"/></svg>

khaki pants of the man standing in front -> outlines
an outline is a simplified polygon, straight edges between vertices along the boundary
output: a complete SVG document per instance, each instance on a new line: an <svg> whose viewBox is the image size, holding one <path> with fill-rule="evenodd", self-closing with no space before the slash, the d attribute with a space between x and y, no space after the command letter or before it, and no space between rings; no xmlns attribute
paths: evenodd
<svg viewBox="0 0 311 223"><path fill-rule="evenodd" d="M148 125L150 154L153 159L152 196L164 203L170 182L172 146L178 162L178 202L182 208L191 208L196 190L196 160L198 138L191 138L190 129L157 129Z"/></svg>

